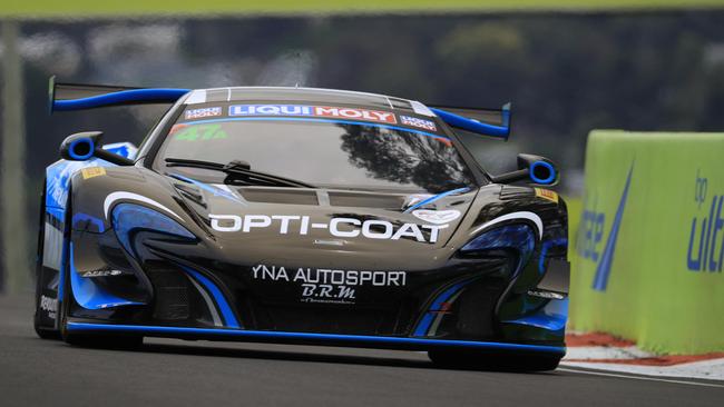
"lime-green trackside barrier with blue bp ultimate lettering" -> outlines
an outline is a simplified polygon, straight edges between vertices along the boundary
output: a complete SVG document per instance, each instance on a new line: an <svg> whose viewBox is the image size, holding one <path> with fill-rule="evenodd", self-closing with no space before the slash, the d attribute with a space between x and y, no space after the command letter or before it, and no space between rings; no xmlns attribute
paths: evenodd
<svg viewBox="0 0 724 407"><path fill-rule="evenodd" d="M724 350L724 133L593 131L570 250L571 327Z"/></svg>

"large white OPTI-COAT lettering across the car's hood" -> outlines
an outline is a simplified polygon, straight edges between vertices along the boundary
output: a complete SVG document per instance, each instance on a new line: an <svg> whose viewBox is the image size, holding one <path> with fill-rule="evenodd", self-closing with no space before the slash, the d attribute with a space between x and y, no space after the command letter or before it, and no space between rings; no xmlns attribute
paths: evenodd
<svg viewBox="0 0 724 407"><path fill-rule="evenodd" d="M450 211L444 211L450 212ZM460 216L448 214L449 219ZM436 225L392 224L382 219L360 220L355 218L332 218L329 222L312 222L309 216L299 215L209 215L212 228L222 232L248 234L254 229L276 228L280 235L309 235L310 230L326 230L330 235L341 238L359 238L380 240L399 240L413 238L418 241L434 244L440 230L448 227L440 218ZM449 220L448 220L449 221ZM431 221L432 222L432 221Z"/></svg>

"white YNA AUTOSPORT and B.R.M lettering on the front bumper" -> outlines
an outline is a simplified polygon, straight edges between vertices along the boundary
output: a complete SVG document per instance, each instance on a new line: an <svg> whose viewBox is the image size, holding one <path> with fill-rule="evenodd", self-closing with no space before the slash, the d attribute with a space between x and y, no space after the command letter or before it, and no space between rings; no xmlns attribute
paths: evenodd
<svg viewBox="0 0 724 407"><path fill-rule="evenodd" d="M407 271L285 268L273 265L252 267L257 281L291 282L301 288L303 302L354 304L358 287L404 287Z"/></svg>

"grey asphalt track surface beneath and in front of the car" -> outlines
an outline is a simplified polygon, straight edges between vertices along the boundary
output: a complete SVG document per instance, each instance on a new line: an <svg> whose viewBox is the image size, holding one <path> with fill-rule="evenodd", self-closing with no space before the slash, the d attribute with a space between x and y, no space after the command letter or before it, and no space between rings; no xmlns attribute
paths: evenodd
<svg viewBox="0 0 724 407"><path fill-rule="evenodd" d="M724 384L450 370L410 351L147 339L84 349L36 337L0 297L0 406L724 406ZM682 383L686 381L686 383Z"/></svg>

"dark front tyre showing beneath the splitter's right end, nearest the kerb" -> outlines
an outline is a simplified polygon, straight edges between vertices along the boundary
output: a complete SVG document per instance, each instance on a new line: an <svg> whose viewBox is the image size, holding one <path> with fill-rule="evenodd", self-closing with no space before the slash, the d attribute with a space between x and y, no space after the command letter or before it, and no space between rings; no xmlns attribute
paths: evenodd
<svg viewBox="0 0 724 407"><path fill-rule="evenodd" d="M555 370L561 356L539 354L500 355L491 353L437 349L428 351L436 366L454 369L497 371Z"/></svg>

